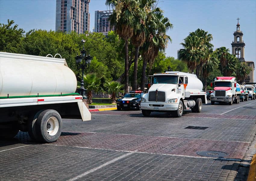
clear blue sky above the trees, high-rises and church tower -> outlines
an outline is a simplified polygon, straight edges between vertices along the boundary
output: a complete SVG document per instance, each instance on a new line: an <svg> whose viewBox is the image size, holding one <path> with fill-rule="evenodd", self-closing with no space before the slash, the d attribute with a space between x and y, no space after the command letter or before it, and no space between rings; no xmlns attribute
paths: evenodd
<svg viewBox="0 0 256 181"><path fill-rule="evenodd" d="M159 7L170 19L173 29L168 31L172 43L167 56L177 58L177 50L189 32L197 28L213 35L214 49L225 46L231 50L237 17L245 42L245 60L256 66L256 1L255 0L160 0ZM26 32L30 29L55 30L55 0L0 0L0 23L14 20ZM105 0L89 3L90 30L94 27L94 11L107 10ZM254 79L256 73L254 71Z"/></svg>

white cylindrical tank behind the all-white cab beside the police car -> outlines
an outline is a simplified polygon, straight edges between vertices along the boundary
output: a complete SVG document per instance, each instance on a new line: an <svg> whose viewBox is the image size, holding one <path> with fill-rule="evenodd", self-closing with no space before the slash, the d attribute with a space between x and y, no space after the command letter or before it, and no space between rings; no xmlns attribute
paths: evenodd
<svg viewBox="0 0 256 181"><path fill-rule="evenodd" d="M186 86L186 92L201 92L203 89L203 83L201 80L197 78L195 74L192 73L184 73L179 71L171 71L166 73L176 73L180 76L187 76L188 77L188 85Z"/></svg>

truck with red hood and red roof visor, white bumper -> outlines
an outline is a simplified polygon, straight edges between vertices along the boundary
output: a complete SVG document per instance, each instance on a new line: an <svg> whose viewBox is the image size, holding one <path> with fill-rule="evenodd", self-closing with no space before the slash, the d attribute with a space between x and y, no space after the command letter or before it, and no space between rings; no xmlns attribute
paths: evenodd
<svg viewBox="0 0 256 181"><path fill-rule="evenodd" d="M216 77L214 81L214 91L211 93L211 105L215 102L229 103L233 102L239 104L240 86L236 82L236 77Z"/></svg>

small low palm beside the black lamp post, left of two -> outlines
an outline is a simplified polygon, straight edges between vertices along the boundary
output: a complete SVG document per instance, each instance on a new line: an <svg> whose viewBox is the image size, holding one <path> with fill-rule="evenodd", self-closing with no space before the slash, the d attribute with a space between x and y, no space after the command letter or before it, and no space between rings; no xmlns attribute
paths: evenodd
<svg viewBox="0 0 256 181"><path fill-rule="evenodd" d="M92 91L103 92L103 89L100 87L101 78L98 78L95 73L89 73L84 75L84 87L87 89L87 99L89 104L92 104Z"/></svg>

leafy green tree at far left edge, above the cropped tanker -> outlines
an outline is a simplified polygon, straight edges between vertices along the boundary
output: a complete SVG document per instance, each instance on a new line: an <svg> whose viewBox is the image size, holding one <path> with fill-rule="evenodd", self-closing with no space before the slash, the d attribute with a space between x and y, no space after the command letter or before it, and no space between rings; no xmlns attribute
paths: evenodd
<svg viewBox="0 0 256 181"><path fill-rule="evenodd" d="M25 31L18 28L18 25L14 25L13 20L8 19L8 24L0 23L0 51L19 53L18 47L20 46L20 41L24 37L23 33Z"/></svg>

